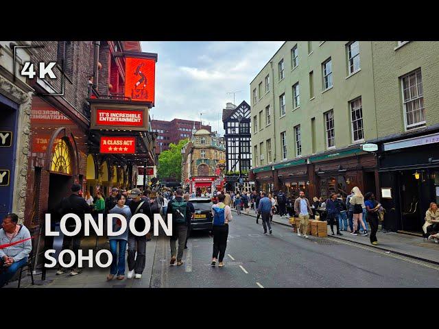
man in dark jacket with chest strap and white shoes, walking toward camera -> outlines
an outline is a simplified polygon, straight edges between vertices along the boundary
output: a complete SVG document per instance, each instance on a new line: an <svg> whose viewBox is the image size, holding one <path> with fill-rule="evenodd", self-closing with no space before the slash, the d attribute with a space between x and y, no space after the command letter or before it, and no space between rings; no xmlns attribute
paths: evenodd
<svg viewBox="0 0 439 329"><path fill-rule="evenodd" d="M139 188L133 188L130 194L131 202L128 205L132 216L136 214L144 214L153 221L150 202L145 202L141 198L141 191ZM145 230L145 221L137 219L135 228L138 232ZM137 256L136 256L137 252ZM143 269L145 269L146 260L146 234L137 236L128 232L128 279L132 276L136 279L142 278Z"/></svg>

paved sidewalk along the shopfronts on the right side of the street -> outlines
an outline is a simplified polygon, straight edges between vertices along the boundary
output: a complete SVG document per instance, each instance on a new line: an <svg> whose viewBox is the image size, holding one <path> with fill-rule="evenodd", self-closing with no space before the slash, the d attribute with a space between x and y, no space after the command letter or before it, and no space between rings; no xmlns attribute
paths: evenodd
<svg viewBox="0 0 439 329"><path fill-rule="evenodd" d="M236 212L234 209L233 211ZM249 210L249 215L251 217L257 217L254 210ZM288 222L289 217L273 215L273 221L291 228L291 225ZM394 252L396 254L401 254L402 256L412 257L439 265L439 243L427 241L427 239L424 241L424 239L419 236L396 232L383 232L382 230L379 230L377 232L377 240L379 244L373 246L370 243L369 236L353 236L346 231L342 231L342 234L342 236L331 235L331 228L328 225L328 236L332 236L335 239L351 241L361 245L367 245L368 247L382 249L385 252Z"/></svg>

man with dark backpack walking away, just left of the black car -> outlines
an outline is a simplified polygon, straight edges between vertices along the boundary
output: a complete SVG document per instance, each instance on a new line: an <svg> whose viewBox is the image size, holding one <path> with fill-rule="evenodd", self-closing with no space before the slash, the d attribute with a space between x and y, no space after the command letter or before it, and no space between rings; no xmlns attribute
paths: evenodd
<svg viewBox="0 0 439 329"><path fill-rule="evenodd" d="M177 265L183 265L182 258L185 249L185 242L187 236L187 227L191 225L188 214L191 214L189 203L183 199L183 189L177 188L176 198L169 201L167 205L168 214L172 214L172 236L171 243L171 265L174 265L177 260ZM176 249L176 241L178 240L178 252Z"/></svg>

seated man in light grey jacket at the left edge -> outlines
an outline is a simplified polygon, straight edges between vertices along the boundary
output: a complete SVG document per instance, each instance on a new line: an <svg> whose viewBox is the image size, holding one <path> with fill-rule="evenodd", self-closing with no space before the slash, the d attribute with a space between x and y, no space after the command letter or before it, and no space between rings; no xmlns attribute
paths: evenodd
<svg viewBox="0 0 439 329"><path fill-rule="evenodd" d="M11 280L20 267L27 264L27 256L32 251L30 232L23 224L19 225L16 214L6 215L1 227L0 245L23 242L0 249L0 288Z"/></svg>

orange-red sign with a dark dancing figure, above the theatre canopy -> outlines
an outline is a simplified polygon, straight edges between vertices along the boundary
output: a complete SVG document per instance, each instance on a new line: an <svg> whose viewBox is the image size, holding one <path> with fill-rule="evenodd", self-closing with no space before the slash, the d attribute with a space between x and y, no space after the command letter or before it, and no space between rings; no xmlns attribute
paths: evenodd
<svg viewBox="0 0 439 329"><path fill-rule="evenodd" d="M126 57L125 96L133 101L154 103L155 76L155 60Z"/></svg>

